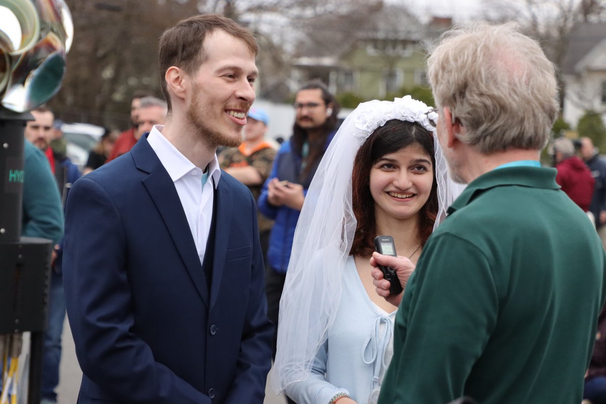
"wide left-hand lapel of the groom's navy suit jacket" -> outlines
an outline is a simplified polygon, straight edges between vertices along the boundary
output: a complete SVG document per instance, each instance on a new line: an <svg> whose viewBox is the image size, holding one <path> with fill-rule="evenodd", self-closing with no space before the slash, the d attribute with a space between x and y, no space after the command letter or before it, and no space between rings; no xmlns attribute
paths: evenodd
<svg viewBox="0 0 606 404"><path fill-rule="evenodd" d="M143 184L162 216L191 281L208 307L208 287L204 279L204 272L175 184L164 166L160 164L158 156L148 144L147 139L137 142L132 149L132 154L137 168L148 173L147 177L143 179Z"/></svg>

